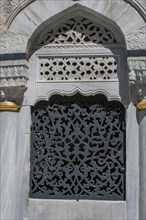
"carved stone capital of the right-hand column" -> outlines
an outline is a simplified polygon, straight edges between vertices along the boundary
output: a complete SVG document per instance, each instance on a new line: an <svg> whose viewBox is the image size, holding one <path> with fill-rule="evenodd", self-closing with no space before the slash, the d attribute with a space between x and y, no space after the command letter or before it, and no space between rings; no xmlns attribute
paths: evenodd
<svg viewBox="0 0 146 220"><path fill-rule="evenodd" d="M146 57L130 57L128 64L131 101L139 109L146 109Z"/></svg>

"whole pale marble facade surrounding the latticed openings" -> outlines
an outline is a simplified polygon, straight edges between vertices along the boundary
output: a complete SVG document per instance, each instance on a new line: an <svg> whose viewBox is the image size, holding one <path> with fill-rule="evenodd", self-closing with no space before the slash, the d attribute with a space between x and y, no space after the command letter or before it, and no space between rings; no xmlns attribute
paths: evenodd
<svg viewBox="0 0 146 220"><path fill-rule="evenodd" d="M0 149L2 220L146 219L146 3L144 0L0 2ZM83 16L105 25L116 44L40 44L48 29ZM56 32L54 32L54 36ZM81 39L82 40L82 39ZM111 80L41 80L44 57L115 57ZM85 60L85 59L84 59ZM45 62L45 61L44 61ZM29 198L30 107L53 94L102 93L126 109L126 200Z"/></svg>

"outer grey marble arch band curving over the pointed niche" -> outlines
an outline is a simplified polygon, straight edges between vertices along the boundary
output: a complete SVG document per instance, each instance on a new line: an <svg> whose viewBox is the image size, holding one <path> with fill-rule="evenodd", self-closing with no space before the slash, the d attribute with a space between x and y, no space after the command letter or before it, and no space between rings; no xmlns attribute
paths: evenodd
<svg viewBox="0 0 146 220"><path fill-rule="evenodd" d="M84 8L84 11L86 8L89 9L89 11L94 10L119 26L125 35L127 48L131 47L129 34L131 33L132 37L134 37L135 31L136 33L138 30L143 31L145 23L142 17L130 4L122 0L114 2L106 0L79 1L79 4L76 4L74 1L34 1L30 4L26 4L25 8L19 8L17 15L10 17L11 19L9 19L8 27L12 32L20 33L26 38L30 38L36 30L36 27L44 23L48 18L53 19L53 16L61 13L63 10L68 10L69 8L73 9L81 7ZM36 13L38 8L39 14ZM133 17L135 18L135 22L131 22ZM136 42L138 44L138 39ZM135 47L139 47L138 45L135 45Z"/></svg>

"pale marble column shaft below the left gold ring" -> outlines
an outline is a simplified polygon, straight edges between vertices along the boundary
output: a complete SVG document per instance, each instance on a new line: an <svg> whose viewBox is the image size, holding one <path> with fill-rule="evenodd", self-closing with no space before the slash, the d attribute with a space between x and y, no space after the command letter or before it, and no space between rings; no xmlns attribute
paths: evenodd
<svg viewBox="0 0 146 220"><path fill-rule="evenodd" d="M15 219L17 112L0 112L0 219Z"/></svg>

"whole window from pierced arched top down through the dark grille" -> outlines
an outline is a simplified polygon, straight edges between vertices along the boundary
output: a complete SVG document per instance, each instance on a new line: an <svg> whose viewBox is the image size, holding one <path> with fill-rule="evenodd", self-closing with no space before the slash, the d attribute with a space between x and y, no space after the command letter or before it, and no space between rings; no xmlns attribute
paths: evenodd
<svg viewBox="0 0 146 220"><path fill-rule="evenodd" d="M30 197L125 199L124 107L95 92L119 96L117 45L112 30L82 16L37 37L36 94L49 101L32 107Z"/></svg>

